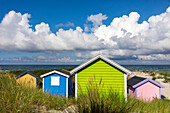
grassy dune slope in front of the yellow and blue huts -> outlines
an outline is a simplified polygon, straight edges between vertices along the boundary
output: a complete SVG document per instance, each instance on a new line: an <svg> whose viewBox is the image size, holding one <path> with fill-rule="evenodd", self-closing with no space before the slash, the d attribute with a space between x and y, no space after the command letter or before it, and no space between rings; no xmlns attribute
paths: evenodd
<svg viewBox="0 0 170 113"><path fill-rule="evenodd" d="M18 85L14 75L0 75L0 112L33 112L44 109L64 109L71 99L43 93L42 89Z"/></svg>

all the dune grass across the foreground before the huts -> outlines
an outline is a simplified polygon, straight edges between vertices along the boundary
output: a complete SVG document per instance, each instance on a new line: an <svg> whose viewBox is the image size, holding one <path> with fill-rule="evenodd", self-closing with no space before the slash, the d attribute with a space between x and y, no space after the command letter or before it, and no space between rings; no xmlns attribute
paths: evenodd
<svg viewBox="0 0 170 113"><path fill-rule="evenodd" d="M125 98L119 93L110 90L107 95L102 90L102 81L98 85L89 81L87 92L80 90L75 101L74 97L49 95L42 89L29 88L18 85L14 79L16 75L0 73L0 112L37 112L55 109L63 110L67 106L77 106L75 112L80 113L169 113L170 101L155 99L152 102L143 102L136 98ZM101 90L98 90L101 88Z"/></svg>

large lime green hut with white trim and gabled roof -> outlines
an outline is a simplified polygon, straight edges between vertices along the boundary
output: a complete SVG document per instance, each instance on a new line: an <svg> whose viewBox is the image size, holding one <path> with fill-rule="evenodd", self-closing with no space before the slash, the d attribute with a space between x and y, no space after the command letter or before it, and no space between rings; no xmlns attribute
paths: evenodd
<svg viewBox="0 0 170 113"><path fill-rule="evenodd" d="M103 89L107 93L114 90L127 96L127 75L131 72L114 61L97 55L89 61L70 71L75 75L75 97L81 92L87 92L88 81L95 78L95 82L102 80Z"/></svg>

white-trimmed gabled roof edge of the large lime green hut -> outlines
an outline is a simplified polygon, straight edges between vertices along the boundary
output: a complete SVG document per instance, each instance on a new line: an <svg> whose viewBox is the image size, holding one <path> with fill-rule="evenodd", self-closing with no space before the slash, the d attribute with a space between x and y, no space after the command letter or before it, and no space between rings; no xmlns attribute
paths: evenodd
<svg viewBox="0 0 170 113"><path fill-rule="evenodd" d="M78 72L79 70L83 69L84 67L88 66L89 64L93 63L94 61L98 60L98 59L101 59L107 63L109 63L110 65L118 68L119 70L123 71L124 73L126 74L131 74L131 71L129 71L128 69L122 67L121 65L117 64L116 62L106 58L106 57L103 57L102 55L97 55L96 57L90 59L89 61L81 64L80 66L74 68L73 70L70 71L70 74L74 74L76 72Z"/></svg>

